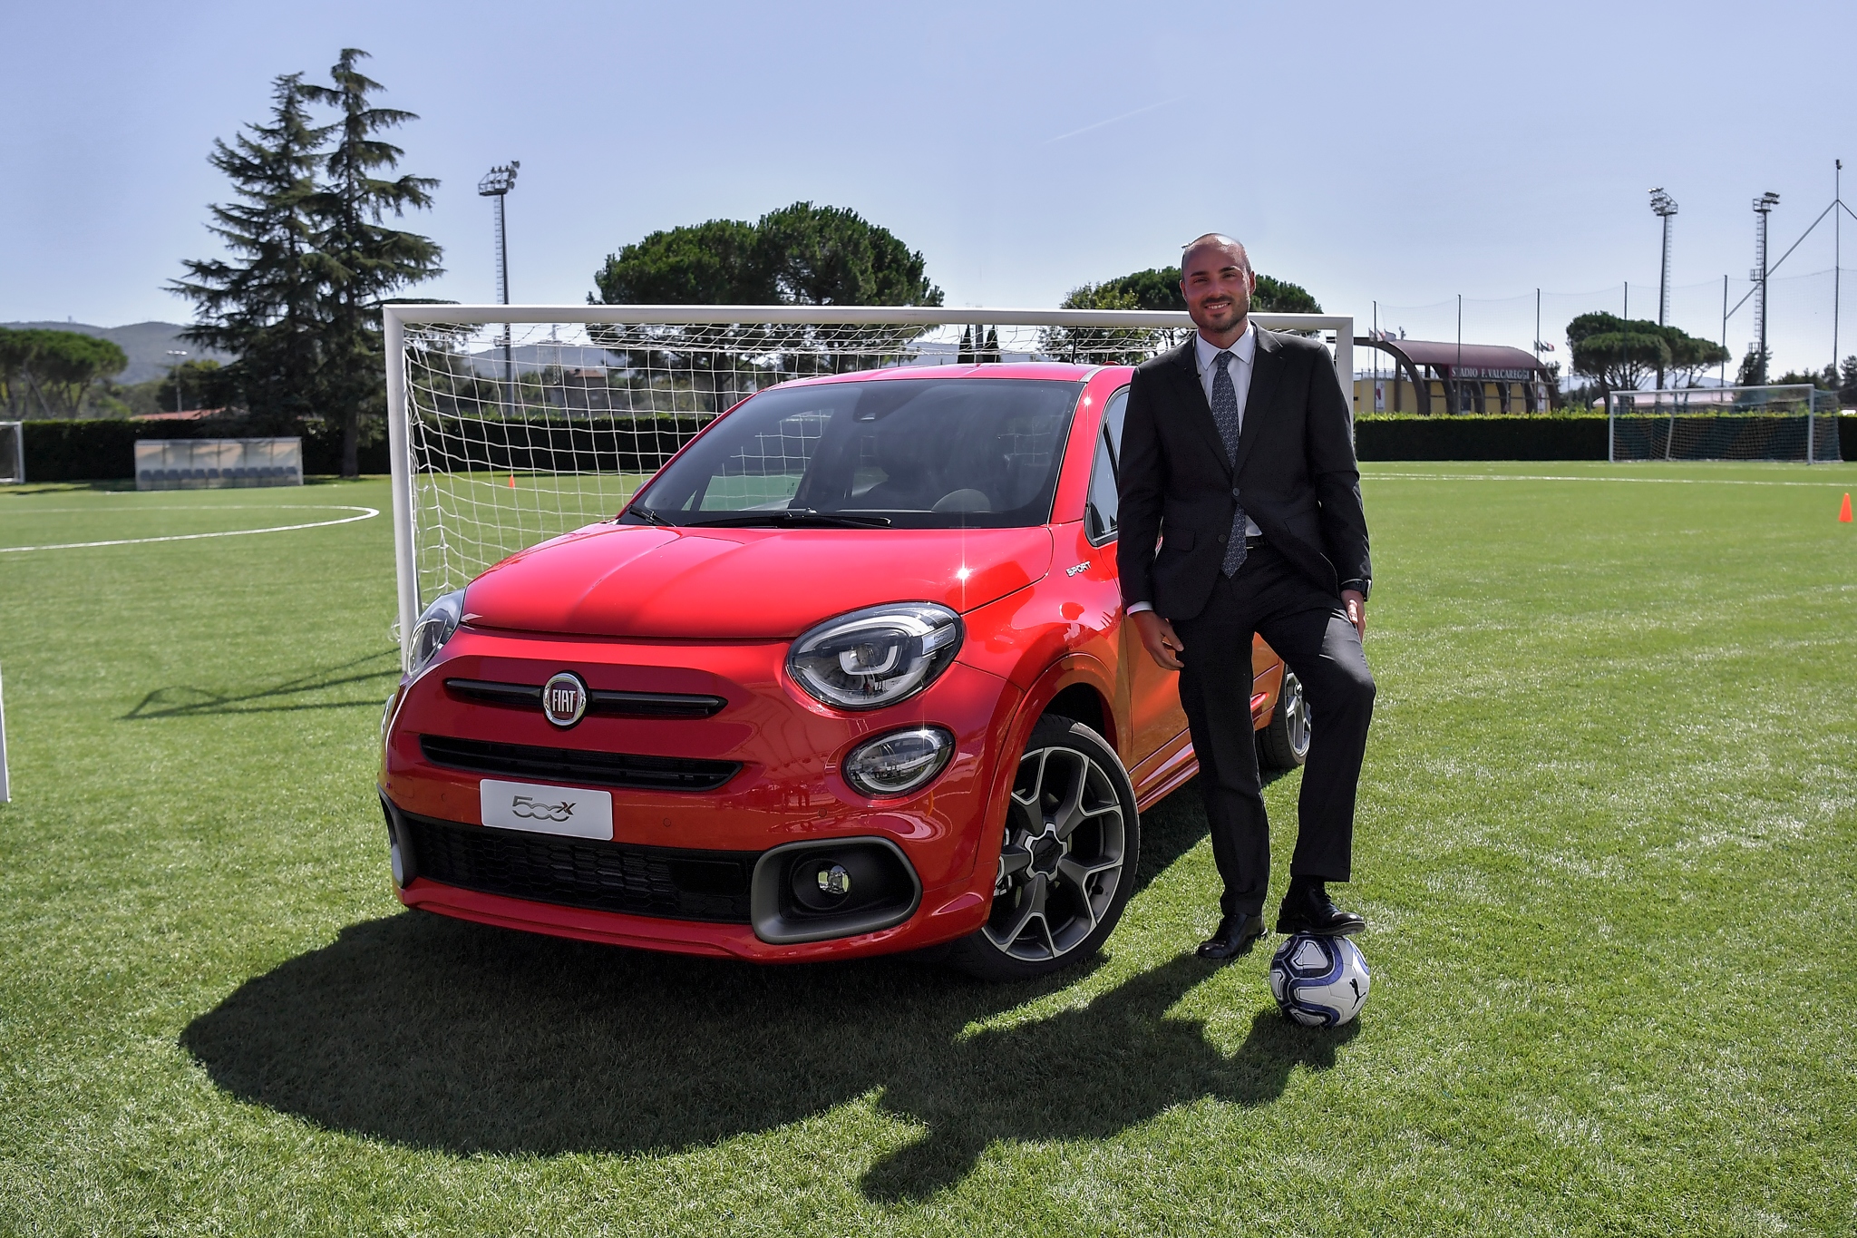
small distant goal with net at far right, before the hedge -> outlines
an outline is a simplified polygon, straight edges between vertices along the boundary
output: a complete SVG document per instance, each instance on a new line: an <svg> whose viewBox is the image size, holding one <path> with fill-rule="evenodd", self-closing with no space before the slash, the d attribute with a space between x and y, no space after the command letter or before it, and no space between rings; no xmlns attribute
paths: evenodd
<svg viewBox="0 0 1857 1238"><path fill-rule="evenodd" d="M1614 392L1606 442L1612 460L1842 458L1837 392L1805 384Z"/></svg>

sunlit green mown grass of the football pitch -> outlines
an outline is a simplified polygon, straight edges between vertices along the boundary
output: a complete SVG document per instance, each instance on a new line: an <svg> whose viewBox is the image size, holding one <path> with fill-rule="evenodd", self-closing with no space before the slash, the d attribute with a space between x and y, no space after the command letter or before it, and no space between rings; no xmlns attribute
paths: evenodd
<svg viewBox="0 0 1857 1238"><path fill-rule="evenodd" d="M384 518L4 553L0 1231L1851 1232L1853 483L1369 468L1341 1034L1266 952L1187 954L1194 787L1109 952L1029 989L405 913ZM264 503L386 486L0 492L0 546Z"/></svg>

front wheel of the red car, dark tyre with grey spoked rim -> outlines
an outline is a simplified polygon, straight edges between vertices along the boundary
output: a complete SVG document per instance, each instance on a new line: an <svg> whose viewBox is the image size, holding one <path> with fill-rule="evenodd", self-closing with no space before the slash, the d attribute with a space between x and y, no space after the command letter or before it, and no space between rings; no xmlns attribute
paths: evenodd
<svg viewBox="0 0 1857 1238"><path fill-rule="evenodd" d="M1031 980L1096 954L1135 893L1135 783L1101 735L1047 715L1006 800L986 924L949 961L984 980Z"/></svg>

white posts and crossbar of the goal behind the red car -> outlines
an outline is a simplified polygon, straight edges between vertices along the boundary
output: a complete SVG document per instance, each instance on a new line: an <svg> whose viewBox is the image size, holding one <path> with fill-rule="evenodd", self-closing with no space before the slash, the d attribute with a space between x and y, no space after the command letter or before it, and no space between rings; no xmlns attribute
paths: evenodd
<svg viewBox="0 0 1857 1238"><path fill-rule="evenodd" d="M1157 330L1190 329L1185 312L1166 310L1001 310L962 306L743 306L743 304L384 304L386 334L386 440L392 466L394 574L397 579L397 631L401 664L410 648L412 625L425 601L420 598L416 546L414 440L407 401L407 327L505 323L665 325L704 327L735 323L826 325L826 327L1058 327ZM1341 390L1354 390L1354 317L1350 314L1252 314L1265 330L1305 330L1333 336L1335 373ZM1352 408L1352 401L1350 401ZM717 410L721 412L721 408Z"/></svg>

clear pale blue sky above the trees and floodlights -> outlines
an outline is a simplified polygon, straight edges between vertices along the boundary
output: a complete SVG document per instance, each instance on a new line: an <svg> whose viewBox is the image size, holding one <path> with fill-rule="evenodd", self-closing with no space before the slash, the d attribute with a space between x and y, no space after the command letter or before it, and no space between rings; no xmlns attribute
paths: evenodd
<svg viewBox="0 0 1857 1238"><path fill-rule="evenodd" d="M214 252L214 137L279 72L373 54L420 113L425 295L492 299L490 163L516 301L578 303L654 228L851 206L928 260L951 304L1055 304L1218 228L1363 325L1526 345L1586 308L1716 338L1747 290L1749 200L1775 256L1857 200L1851 4L15 4L0 76L0 321L184 321L162 291ZM1844 219L1846 252L1857 221ZM1857 267L1857 258L1844 258ZM1829 221L1772 284L1775 364L1831 358ZM1846 280L1851 282L1851 280ZM1844 290L1840 353L1857 353ZM1729 325L1740 355L1749 308Z"/></svg>

